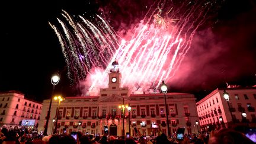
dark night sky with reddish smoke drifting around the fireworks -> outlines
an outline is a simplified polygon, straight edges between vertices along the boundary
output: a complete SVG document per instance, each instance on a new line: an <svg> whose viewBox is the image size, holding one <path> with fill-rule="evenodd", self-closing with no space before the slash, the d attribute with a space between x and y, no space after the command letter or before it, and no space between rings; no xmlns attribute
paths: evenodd
<svg viewBox="0 0 256 144"><path fill-rule="evenodd" d="M5 1L0 10L0 91L18 90L26 97L41 101L52 92L52 73L62 71L56 91L72 95L75 88L66 78L65 59L48 21L55 24L62 9L88 18L101 7L122 9L114 2L117 1ZM136 8L144 4L143 1L130 2L136 4ZM190 92L200 99L213 89L224 87L224 81L243 86L256 84L255 5L254 0L223 2L210 28L198 31L193 41L197 49L191 50L181 66L183 69L190 65L189 74L177 80L181 84L171 87L174 91ZM124 9L129 11L129 5ZM124 14L120 11L113 11L109 17L118 18ZM190 63L186 63L188 61Z"/></svg>

